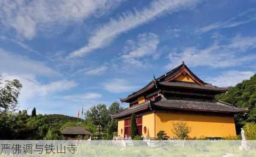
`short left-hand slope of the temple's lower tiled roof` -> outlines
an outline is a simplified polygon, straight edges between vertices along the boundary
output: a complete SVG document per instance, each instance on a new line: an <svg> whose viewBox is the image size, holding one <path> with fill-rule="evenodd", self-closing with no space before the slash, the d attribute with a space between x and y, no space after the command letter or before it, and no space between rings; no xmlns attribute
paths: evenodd
<svg viewBox="0 0 256 157"><path fill-rule="evenodd" d="M128 107L128 108L122 110L121 112L117 113L116 115L113 115L112 117L113 118L118 118L118 117L122 117L122 116L125 116L125 115L130 115L133 112L138 112L138 111L141 111L141 110L144 110L144 109L148 109L149 103L150 102L147 101L143 104L140 104L140 105L137 105L137 106L134 106L134 107Z"/></svg>

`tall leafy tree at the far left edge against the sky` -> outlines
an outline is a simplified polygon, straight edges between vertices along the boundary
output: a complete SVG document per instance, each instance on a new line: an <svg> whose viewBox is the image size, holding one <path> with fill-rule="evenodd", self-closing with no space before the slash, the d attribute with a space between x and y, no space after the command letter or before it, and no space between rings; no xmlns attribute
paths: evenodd
<svg viewBox="0 0 256 157"><path fill-rule="evenodd" d="M17 79L4 82L0 79L0 113L16 110L21 88L22 84Z"/></svg>

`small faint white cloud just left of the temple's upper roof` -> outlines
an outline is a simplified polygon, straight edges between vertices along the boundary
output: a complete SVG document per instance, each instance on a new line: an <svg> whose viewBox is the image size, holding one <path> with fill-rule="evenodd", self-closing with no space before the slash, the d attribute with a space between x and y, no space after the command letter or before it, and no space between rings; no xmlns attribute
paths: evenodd
<svg viewBox="0 0 256 157"><path fill-rule="evenodd" d="M139 87L131 85L128 81L122 78L113 78L111 81L103 84L105 90L111 93L125 93L137 90Z"/></svg>

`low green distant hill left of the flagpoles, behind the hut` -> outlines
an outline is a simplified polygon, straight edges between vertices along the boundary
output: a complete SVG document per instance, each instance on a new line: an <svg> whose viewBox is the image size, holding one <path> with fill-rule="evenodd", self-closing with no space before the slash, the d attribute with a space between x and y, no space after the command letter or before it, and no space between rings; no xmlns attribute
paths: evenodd
<svg viewBox="0 0 256 157"><path fill-rule="evenodd" d="M49 124L49 126L60 129L61 126L66 123L66 122L77 122L76 117L71 117L68 115L58 115L58 114L53 114L53 115L43 115L44 120ZM79 121L81 119L79 118ZM84 120L82 120L84 121Z"/></svg>

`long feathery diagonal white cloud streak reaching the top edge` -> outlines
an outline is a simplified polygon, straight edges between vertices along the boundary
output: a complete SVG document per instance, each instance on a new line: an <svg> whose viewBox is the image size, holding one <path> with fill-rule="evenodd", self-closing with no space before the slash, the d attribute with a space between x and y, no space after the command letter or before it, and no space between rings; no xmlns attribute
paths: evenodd
<svg viewBox="0 0 256 157"><path fill-rule="evenodd" d="M103 48L125 31L154 20L163 13L171 14L180 9L194 7L197 3L198 0L154 0L148 8L141 11L135 10L134 13L127 12L117 20L111 19L110 22L95 31L87 45L72 52L69 57L83 56L92 50Z"/></svg>

